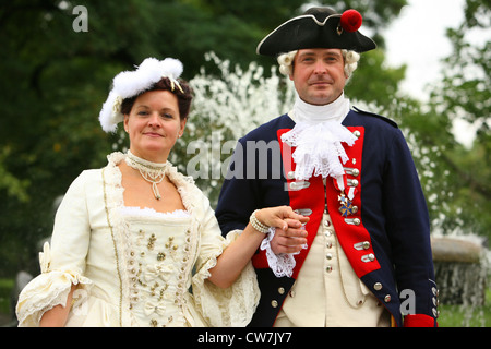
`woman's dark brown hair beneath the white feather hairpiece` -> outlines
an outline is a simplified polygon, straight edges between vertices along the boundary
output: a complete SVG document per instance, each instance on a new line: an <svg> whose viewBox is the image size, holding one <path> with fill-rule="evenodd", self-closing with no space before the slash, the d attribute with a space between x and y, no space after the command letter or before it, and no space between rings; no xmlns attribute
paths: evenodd
<svg viewBox="0 0 491 349"><path fill-rule="evenodd" d="M156 82L148 89L145 89L141 94L130 98L125 98L121 104L121 113L129 115L131 112L131 108L133 108L136 98L143 95L144 93L147 93L149 91L168 91L175 94L176 97L178 98L180 119L181 120L187 119L189 116L189 111L191 109L191 100L193 99L192 89L187 81L179 79L178 82L183 93L179 89L179 86L177 86L177 84L173 84L172 91L172 83L170 82L170 80L168 77L163 77L160 79L160 81Z"/></svg>

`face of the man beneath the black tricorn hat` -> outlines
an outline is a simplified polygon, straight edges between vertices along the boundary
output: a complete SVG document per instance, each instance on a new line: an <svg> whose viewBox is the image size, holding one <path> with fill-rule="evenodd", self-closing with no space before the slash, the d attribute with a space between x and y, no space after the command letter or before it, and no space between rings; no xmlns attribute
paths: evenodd
<svg viewBox="0 0 491 349"><path fill-rule="evenodd" d="M295 56L290 80L300 98L323 106L336 100L346 84L340 49L303 49Z"/></svg>

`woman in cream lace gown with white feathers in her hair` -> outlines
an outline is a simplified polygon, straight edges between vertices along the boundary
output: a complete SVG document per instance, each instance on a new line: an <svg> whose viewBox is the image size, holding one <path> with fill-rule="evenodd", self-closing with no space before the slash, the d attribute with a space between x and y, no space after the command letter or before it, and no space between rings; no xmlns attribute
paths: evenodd
<svg viewBox="0 0 491 349"><path fill-rule="evenodd" d="M250 258L263 232L289 225L304 234L304 218L265 208L221 238L207 198L167 161L192 99L181 73L178 60L149 58L115 77L99 120L106 132L122 121L130 151L68 190L41 275L20 294L20 326L249 323L259 301Z"/></svg>

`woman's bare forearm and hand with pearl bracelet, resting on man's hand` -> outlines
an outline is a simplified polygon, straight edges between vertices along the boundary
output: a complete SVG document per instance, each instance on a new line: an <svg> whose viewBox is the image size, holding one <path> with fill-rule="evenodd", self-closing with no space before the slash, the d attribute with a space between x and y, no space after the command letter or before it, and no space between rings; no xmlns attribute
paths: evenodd
<svg viewBox="0 0 491 349"><path fill-rule="evenodd" d="M291 248L294 252L300 251L301 245L307 242L307 231L301 229L309 218L294 213L291 207L279 206L263 208L256 212L258 220L268 227L276 227L295 240ZM255 230L248 224L242 233L233 241L218 257L215 267L209 269L212 276L209 281L220 288L227 288L233 284L242 269L252 258L265 234ZM294 243L294 242L292 242Z"/></svg>

